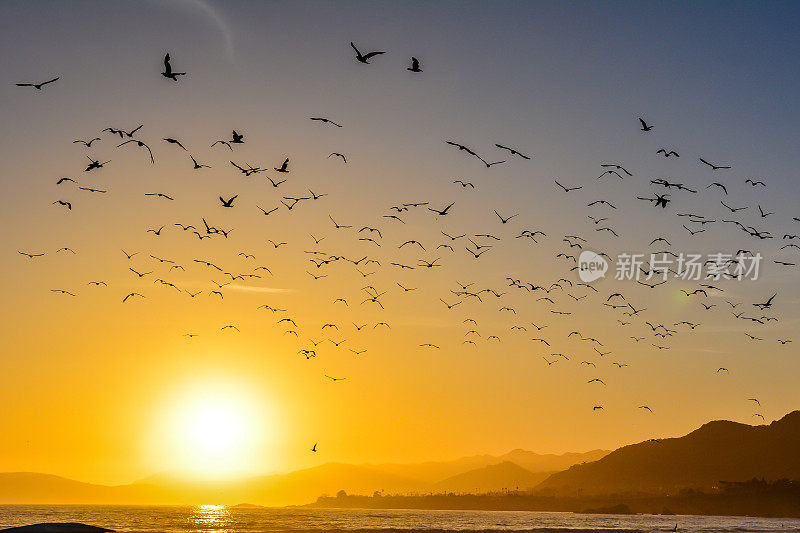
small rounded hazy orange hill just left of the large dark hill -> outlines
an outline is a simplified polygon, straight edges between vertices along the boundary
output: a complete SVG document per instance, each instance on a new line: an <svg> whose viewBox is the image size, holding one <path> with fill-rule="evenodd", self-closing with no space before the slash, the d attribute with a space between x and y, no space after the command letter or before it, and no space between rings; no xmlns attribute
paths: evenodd
<svg viewBox="0 0 800 533"><path fill-rule="evenodd" d="M531 489L547 479L548 472L533 473L510 461L476 468L435 483L433 492L492 492Z"/></svg>

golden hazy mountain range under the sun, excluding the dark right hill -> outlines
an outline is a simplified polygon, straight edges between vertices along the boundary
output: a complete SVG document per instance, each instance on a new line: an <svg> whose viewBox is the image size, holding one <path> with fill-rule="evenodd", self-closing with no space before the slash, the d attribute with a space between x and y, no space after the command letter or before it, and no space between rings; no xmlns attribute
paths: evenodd
<svg viewBox="0 0 800 533"><path fill-rule="evenodd" d="M418 464L349 465L326 463L286 474L228 482L190 481L157 474L135 483L106 486L28 472L0 474L0 503L135 503L293 505L339 490L372 494L410 492L487 492L531 488L550 472L608 453L593 450L563 455L514 450L501 456L478 455ZM510 459L515 459L510 462Z"/></svg>

